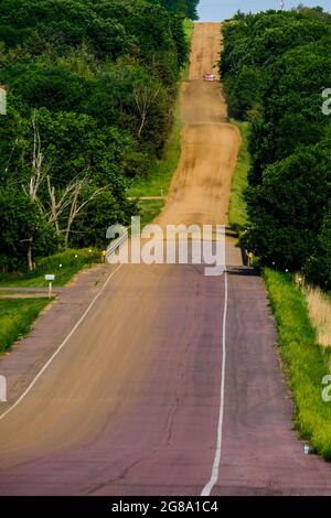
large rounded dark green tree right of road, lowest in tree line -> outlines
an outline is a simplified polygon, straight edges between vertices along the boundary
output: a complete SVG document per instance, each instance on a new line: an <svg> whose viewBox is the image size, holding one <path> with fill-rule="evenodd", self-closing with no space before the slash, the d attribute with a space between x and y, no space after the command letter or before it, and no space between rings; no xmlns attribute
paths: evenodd
<svg viewBox="0 0 331 518"><path fill-rule="evenodd" d="M243 244L265 263L295 269L312 255L331 197L330 149L329 139L301 148L248 187Z"/></svg>

